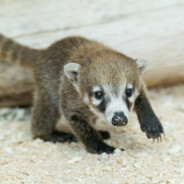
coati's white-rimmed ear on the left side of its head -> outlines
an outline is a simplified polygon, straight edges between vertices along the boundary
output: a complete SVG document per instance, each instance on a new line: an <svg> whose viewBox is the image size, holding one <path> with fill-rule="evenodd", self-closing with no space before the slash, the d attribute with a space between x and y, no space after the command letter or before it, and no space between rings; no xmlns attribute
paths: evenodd
<svg viewBox="0 0 184 184"><path fill-rule="evenodd" d="M64 65L64 73L65 76L72 82L72 84L76 87L78 82L78 72L80 65L77 63L68 63Z"/></svg>

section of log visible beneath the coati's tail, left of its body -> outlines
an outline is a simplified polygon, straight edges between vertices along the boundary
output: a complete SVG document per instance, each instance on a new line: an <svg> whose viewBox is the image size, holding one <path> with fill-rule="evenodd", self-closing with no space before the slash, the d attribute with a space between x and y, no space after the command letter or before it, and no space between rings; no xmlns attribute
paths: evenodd
<svg viewBox="0 0 184 184"><path fill-rule="evenodd" d="M33 75L19 66L0 62L0 107L32 104Z"/></svg>

